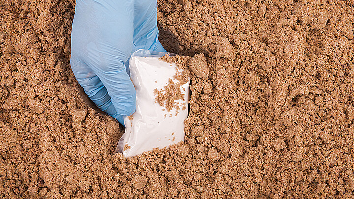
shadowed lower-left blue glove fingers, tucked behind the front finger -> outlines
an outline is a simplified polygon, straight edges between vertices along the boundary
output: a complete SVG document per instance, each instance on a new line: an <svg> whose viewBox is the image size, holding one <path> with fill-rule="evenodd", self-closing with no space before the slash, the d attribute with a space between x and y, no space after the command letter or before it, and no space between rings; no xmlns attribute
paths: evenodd
<svg viewBox="0 0 354 199"><path fill-rule="evenodd" d="M71 59L71 68L79 84L97 107L124 125L123 116L116 112L111 97L98 76L86 64L75 59Z"/></svg>

